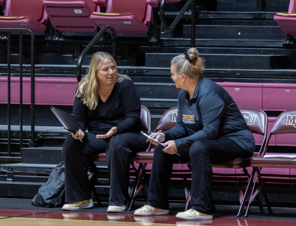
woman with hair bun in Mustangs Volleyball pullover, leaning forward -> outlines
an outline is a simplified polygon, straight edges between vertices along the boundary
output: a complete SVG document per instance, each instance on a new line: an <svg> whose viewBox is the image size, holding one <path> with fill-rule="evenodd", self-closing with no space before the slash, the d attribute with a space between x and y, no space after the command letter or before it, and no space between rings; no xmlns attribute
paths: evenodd
<svg viewBox="0 0 296 226"><path fill-rule="evenodd" d="M211 205L212 163L251 157L254 137L237 105L215 82L202 76L204 59L195 48L171 60L171 78L180 88L176 125L159 133L155 146L147 205L135 215L169 212L167 199L172 162L190 160L192 166L191 207L179 219L213 219ZM157 145L156 142L150 141Z"/></svg>

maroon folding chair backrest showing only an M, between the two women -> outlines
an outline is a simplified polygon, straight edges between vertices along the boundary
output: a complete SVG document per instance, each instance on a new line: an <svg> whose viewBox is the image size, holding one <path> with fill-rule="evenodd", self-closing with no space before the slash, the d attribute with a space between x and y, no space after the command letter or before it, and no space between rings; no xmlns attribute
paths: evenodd
<svg viewBox="0 0 296 226"><path fill-rule="evenodd" d="M176 125L177 122L177 114L178 114L178 107L172 107L168 109L163 116L161 117L160 121L158 122L155 131L159 130L170 130Z"/></svg>

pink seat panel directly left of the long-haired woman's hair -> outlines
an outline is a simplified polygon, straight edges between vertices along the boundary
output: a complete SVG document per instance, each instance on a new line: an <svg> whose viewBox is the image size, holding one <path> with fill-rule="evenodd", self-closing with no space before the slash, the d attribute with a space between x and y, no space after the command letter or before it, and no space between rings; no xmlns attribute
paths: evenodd
<svg viewBox="0 0 296 226"><path fill-rule="evenodd" d="M76 78L38 77L35 79L36 104L73 105Z"/></svg>

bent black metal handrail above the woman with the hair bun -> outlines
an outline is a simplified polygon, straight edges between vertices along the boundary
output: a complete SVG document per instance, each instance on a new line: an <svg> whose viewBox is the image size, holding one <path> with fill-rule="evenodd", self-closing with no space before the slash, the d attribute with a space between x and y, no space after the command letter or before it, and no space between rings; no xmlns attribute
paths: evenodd
<svg viewBox="0 0 296 226"><path fill-rule="evenodd" d="M182 16L188 9L188 7L191 4L191 47L195 46L195 7L196 7L196 0L188 0L186 4L184 5L183 9L181 9L180 13L177 15L176 19L173 21L173 23L168 26L165 19L165 1L162 0L160 4L160 21L161 26L166 31L171 31L176 28L177 24L180 22Z"/></svg>

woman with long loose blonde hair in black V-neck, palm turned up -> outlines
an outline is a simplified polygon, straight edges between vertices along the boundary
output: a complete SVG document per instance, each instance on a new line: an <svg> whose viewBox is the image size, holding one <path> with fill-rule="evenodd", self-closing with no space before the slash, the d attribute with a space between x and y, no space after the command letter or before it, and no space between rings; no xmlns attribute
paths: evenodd
<svg viewBox="0 0 296 226"><path fill-rule="evenodd" d="M131 154L147 148L145 137L139 133L143 129L140 112L140 98L131 79L118 74L110 54L94 53L74 98L73 116L81 128L63 144L68 202L63 210L93 206L87 163L102 152L106 152L110 180L107 211L126 210Z"/></svg>

